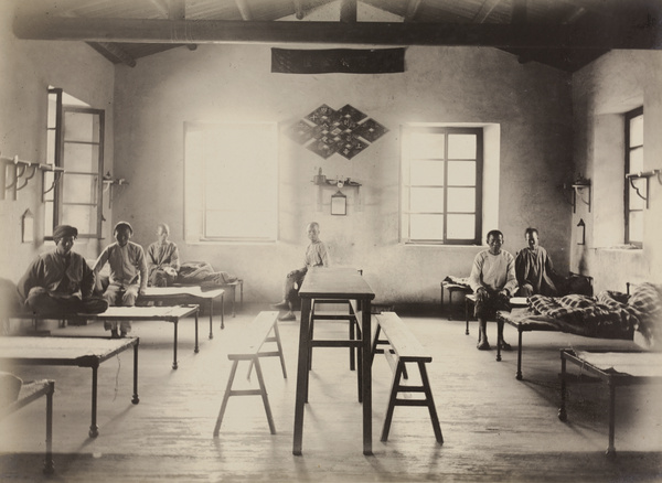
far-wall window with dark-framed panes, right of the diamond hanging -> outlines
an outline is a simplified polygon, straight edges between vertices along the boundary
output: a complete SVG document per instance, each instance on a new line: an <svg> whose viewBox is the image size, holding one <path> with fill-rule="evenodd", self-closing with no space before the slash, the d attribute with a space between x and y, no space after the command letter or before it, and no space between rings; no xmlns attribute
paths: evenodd
<svg viewBox="0 0 662 483"><path fill-rule="evenodd" d="M403 128L401 239L480 245L483 130Z"/></svg>

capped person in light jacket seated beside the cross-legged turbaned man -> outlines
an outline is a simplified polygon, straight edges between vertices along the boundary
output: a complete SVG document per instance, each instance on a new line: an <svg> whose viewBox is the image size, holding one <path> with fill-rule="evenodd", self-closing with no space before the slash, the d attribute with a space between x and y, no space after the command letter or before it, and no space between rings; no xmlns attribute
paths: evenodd
<svg viewBox="0 0 662 483"><path fill-rule="evenodd" d="M94 265L95 275L104 268L106 262L110 266L109 283L104 292L104 299L109 305L132 307L136 304L138 294L143 294L147 288L145 251L140 245L129 242L131 235L134 235L134 228L127 222L119 222L115 225L113 230L115 243L102 251ZM104 321L104 329L110 331L113 339L124 337L130 332L131 322L128 320Z"/></svg>

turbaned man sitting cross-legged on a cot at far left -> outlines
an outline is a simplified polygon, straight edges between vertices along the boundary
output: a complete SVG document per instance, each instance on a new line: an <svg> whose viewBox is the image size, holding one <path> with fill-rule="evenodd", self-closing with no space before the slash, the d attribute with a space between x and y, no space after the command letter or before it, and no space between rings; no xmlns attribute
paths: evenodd
<svg viewBox="0 0 662 483"><path fill-rule="evenodd" d="M78 230L70 225L53 230L55 249L40 255L18 285L24 304L38 314L102 313L108 303L93 297L95 273L83 256L72 251Z"/></svg>

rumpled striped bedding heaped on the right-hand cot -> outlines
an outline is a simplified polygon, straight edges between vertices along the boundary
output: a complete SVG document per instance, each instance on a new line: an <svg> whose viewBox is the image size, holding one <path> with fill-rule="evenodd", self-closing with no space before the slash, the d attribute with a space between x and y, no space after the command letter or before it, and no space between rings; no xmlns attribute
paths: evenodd
<svg viewBox="0 0 662 483"><path fill-rule="evenodd" d="M577 335L634 340L649 350L662 337L662 286L653 283L634 286L631 296L608 290L597 297L533 296L528 307Z"/></svg>

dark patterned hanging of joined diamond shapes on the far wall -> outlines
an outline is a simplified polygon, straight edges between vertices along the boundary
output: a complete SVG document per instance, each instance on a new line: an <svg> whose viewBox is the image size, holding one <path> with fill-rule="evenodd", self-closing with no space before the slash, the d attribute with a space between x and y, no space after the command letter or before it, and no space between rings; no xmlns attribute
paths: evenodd
<svg viewBox="0 0 662 483"><path fill-rule="evenodd" d="M384 126L349 104L335 110L322 104L293 125L288 136L327 159L338 152L352 159L386 132Z"/></svg>

